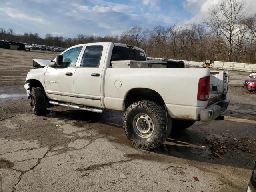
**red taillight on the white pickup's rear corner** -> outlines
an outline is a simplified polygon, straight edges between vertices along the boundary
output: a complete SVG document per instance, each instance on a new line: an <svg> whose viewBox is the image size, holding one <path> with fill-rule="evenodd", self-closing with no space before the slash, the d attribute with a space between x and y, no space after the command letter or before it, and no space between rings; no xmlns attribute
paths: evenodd
<svg viewBox="0 0 256 192"><path fill-rule="evenodd" d="M210 76L200 78L198 84L197 100L207 101L210 92Z"/></svg>

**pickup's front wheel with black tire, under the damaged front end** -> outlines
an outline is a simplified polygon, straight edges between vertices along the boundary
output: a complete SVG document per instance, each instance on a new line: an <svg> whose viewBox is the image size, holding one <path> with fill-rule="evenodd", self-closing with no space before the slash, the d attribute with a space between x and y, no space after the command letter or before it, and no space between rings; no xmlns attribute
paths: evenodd
<svg viewBox="0 0 256 192"><path fill-rule="evenodd" d="M46 105L44 100L44 88L33 87L31 91L32 112L35 115L46 115Z"/></svg>

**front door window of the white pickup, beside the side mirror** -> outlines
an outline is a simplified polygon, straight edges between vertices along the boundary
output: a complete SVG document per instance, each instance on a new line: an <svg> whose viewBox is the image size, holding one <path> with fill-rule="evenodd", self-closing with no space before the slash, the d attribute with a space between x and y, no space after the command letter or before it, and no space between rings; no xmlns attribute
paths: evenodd
<svg viewBox="0 0 256 192"><path fill-rule="evenodd" d="M63 66L64 67L74 67L76 65L76 60L83 47L76 47L68 50L63 56Z"/></svg>

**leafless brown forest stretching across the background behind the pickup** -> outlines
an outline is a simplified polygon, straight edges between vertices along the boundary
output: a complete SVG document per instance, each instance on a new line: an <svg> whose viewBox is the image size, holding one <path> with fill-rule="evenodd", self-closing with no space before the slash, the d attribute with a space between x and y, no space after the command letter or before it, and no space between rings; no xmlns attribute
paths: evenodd
<svg viewBox="0 0 256 192"><path fill-rule="evenodd" d="M156 25L149 30L134 26L120 36L78 34L74 38L38 33L15 34L14 29L0 28L0 40L52 45L68 48L91 42L120 42L145 50L147 56L191 61L230 61L256 63L256 15L246 17L242 0L221 0L208 10L201 24Z"/></svg>

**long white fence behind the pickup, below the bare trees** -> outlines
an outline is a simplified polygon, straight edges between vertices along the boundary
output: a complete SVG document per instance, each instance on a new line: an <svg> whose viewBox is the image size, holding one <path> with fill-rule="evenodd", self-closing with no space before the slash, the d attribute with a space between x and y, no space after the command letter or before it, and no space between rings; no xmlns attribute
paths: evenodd
<svg viewBox="0 0 256 192"><path fill-rule="evenodd" d="M162 58L150 58L150 59L162 60ZM184 61L184 63L186 66L193 66L193 67L203 67L203 64L204 64L204 62L198 62L198 61ZM211 64L211 66L214 69L256 72L256 64L250 64L250 63L215 61L213 64Z"/></svg>

